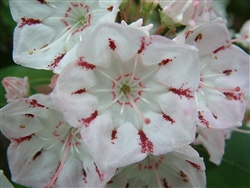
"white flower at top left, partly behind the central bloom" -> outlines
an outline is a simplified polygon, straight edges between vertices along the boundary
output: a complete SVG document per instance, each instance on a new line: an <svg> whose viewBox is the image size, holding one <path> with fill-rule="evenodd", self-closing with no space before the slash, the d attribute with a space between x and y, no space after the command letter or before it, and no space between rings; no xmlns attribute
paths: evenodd
<svg viewBox="0 0 250 188"><path fill-rule="evenodd" d="M119 1L10 1L14 32L14 61L60 73L74 47L100 21L114 21Z"/></svg>

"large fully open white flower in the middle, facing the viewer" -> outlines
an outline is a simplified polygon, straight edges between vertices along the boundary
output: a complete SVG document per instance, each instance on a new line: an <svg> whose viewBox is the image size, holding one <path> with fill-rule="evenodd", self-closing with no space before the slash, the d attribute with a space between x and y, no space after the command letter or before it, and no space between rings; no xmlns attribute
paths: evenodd
<svg viewBox="0 0 250 188"><path fill-rule="evenodd" d="M195 137L195 47L121 24L99 25L52 98L104 169L165 154Z"/></svg>

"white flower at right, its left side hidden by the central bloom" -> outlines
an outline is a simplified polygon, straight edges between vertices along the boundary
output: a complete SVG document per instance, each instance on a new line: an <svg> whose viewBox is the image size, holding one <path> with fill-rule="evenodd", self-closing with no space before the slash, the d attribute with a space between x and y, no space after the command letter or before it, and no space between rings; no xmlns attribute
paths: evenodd
<svg viewBox="0 0 250 188"><path fill-rule="evenodd" d="M249 55L230 42L222 19L197 26L179 38L199 49L198 125L219 129L240 126L250 85Z"/></svg>

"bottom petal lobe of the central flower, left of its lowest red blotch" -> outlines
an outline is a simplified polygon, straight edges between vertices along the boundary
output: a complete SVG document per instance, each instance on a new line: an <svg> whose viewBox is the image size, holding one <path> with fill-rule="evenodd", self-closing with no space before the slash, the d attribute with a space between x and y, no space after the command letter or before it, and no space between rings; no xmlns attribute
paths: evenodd
<svg viewBox="0 0 250 188"><path fill-rule="evenodd" d="M81 135L86 145L91 148L94 160L104 170L126 166L142 160L147 155L141 152L138 130L134 126L124 123L116 129L111 120L105 116L99 116L94 124L86 130L82 129Z"/></svg>

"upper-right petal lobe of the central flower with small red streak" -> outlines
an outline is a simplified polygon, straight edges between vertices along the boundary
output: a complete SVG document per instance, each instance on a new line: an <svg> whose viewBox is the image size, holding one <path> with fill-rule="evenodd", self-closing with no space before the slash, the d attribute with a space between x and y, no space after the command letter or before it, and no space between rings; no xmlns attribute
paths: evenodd
<svg viewBox="0 0 250 188"><path fill-rule="evenodd" d="M150 45L146 46L145 51L142 52L143 63L145 65L155 62L162 64L157 78L168 86L180 88L185 85L184 87L192 87L191 90L196 89L199 77L196 48L178 44L160 36L152 36L151 39ZM180 79L180 75L184 78Z"/></svg>

